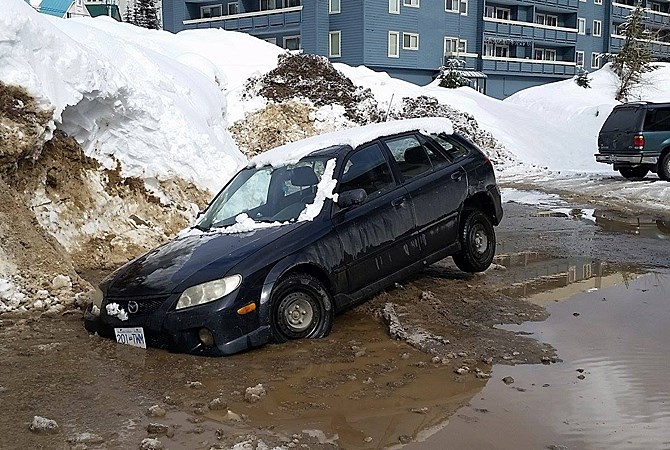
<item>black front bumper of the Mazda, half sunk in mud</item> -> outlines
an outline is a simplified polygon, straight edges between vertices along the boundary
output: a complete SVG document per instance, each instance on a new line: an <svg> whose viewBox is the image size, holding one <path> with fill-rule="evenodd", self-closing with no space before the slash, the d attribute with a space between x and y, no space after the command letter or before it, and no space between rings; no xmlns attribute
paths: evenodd
<svg viewBox="0 0 670 450"><path fill-rule="evenodd" d="M95 316L90 307L84 313L84 327L91 333L115 339L114 328L142 327L148 347L203 356L222 356L260 347L270 338L269 325L261 325L258 316L237 314L234 307L221 306L220 301L188 308L170 310L174 302L165 301L160 309L150 314L131 314L121 321L105 314L108 303ZM214 336L214 345L205 346L198 337L201 328Z"/></svg>

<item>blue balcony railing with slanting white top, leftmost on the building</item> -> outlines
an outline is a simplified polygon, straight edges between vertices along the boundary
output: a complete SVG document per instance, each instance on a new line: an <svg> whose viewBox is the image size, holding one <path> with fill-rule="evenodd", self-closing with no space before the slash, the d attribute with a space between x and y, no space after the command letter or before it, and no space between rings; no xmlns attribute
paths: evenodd
<svg viewBox="0 0 670 450"><path fill-rule="evenodd" d="M301 21L302 6L294 6L291 8L185 20L184 29L223 28L228 31L244 31L245 33L262 33L279 29L299 31Z"/></svg>

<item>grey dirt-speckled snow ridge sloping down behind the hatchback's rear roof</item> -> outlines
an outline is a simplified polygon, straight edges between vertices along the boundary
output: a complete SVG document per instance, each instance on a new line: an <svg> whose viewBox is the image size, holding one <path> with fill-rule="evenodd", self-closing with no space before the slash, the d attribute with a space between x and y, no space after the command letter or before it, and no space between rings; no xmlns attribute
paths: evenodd
<svg viewBox="0 0 670 450"><path fill-rule="evenodd" d="M494 164L514 161L509 151L488 131L479 128L477 120L471 114L440 104L434 97L406 97L402 104L391 111L392 119L416 119L420 117L446 117L454 124L454 131L477 144Z"/></svg>

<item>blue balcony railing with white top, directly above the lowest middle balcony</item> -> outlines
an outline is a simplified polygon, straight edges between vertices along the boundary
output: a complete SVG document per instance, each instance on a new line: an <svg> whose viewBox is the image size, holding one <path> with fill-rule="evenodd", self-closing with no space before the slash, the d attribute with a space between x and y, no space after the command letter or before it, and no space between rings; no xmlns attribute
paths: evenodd
<svg viewBox="0 0 670 450"><path fill-rule="evenodd" d="M484 17L484 33L503 39L555 42L574 45L577 42L577 29L552 27L539 23Z"/></svg>

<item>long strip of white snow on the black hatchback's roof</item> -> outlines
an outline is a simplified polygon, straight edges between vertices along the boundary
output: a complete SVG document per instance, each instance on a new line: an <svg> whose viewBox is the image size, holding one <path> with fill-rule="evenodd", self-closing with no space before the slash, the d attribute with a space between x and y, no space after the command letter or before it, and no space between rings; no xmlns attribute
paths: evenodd
<svg viewBox="0 0 670 450"><path fill-rule="evenodd" d="M253 157L249 167L279 166L298 162L310 153L335 145L350 145L353 148L382 136L389 136L407 131L421 131L426 134L454 132L451 120L444 117L427 117L421 119L392 120L375 123L333 133L321 134L311 138L276 147Z"/></svg>

